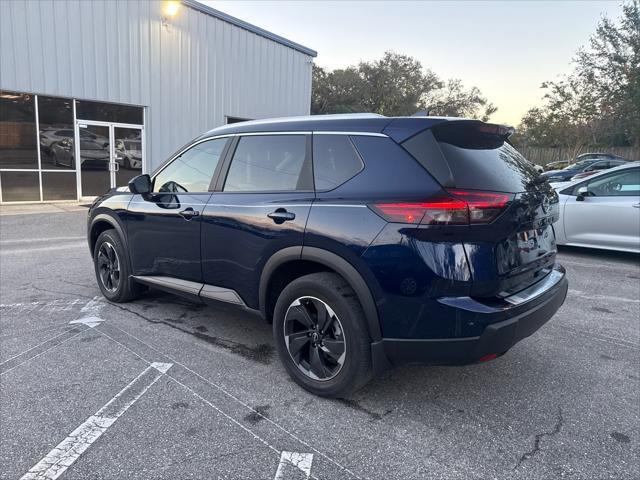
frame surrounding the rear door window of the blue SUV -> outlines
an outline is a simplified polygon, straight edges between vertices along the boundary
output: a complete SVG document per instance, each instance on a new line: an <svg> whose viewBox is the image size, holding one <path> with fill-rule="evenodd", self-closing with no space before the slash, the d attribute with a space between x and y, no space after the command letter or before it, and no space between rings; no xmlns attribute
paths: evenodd
<svg viewBox="0 0 640 480"><path fill-rule="evenodd" d="M238 144L243 137L272 137L272 136L304 136L305 139L305 157L304 163L302 165L302 169L306 169L306 174L309 176L309 188L304 189L296 189L296 190L235 190L235 191L224 191L224 184L227 181L227 176L229 174L229 170L231 168L231 162L233 161L233 157L236 153L236 149L238 148ZM307 131L298 131L298 132L249 132L249 133L237 133L233 134L233 139L230 142L229 150L224 159L224 165L220 171L220 175L218 176L217 182L215 183L214 192L225 193L229 195L248 195L248 194L290 194L290 193L315 193L315 185L313 179L313 164L311 161L312 153L311 153L311 132Z"/></svg>

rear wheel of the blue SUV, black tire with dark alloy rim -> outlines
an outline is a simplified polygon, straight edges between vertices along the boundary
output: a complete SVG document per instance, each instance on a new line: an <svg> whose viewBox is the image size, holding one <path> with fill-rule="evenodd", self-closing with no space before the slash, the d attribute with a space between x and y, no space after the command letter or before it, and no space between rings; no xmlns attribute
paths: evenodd
<svg viewBox="0 0 640 480"><path fill-rule="evenodd" d="M318 315L323 308L327 315ZM323 331L318 324L325 319L330 321ZM345 396L373 376L364 312L353 289L335 273L313 273L285 287L276 302L273 335L289 375L315 395Z"/></svg>

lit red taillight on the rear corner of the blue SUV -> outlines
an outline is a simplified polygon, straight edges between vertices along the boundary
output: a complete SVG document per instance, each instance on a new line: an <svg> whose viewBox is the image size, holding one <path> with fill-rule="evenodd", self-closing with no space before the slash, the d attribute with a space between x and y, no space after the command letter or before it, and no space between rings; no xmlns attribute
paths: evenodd
<svg viewBox="0 0 640 480"><path fill-rule="evenodd" d="M448 190L425 202L375 203L370 207L394 223L420 225L472 225L489 223L504 211L513 195L508 193Z"/></svg>

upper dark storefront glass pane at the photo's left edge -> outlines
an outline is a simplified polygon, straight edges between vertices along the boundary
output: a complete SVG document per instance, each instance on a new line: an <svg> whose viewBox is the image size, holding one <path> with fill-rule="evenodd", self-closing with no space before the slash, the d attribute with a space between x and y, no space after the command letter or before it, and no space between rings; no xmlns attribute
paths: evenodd
<svg viewBox="0 0 640 480"><path fill-rule="evenodd" d="M0 168L38 169L34 95L0 90Z"/></svg>

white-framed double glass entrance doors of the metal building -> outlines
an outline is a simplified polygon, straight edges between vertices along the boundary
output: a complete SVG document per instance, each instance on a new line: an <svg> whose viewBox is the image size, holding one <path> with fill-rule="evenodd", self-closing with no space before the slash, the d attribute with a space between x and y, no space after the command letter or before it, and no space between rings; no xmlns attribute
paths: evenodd
<svg viewBox="0 0 640 480"><path fill-rule="evenodd" d="M106 122L78 121L80 197L96 197L126 186L144 163L143 128Z"/></svg>

